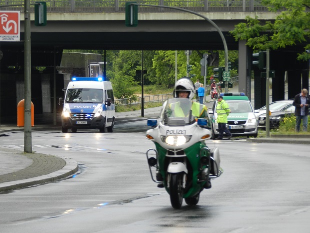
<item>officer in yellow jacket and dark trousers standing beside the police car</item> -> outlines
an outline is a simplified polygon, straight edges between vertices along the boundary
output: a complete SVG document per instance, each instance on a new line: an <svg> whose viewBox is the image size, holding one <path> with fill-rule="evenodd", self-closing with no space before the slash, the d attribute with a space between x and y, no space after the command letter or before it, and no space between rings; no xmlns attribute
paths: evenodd
<svg viewBox="0 0 310 233"><path fill-rule="evenodd" d="M227 139L230 139L231 133L226 127L227 116L229 115L230 110L228 104L223 100L222 96L218 96L217 98L216 113L217 113L216 122L218 125L219 135L217 138L215 138L215 140L222 140L224 133L226 134Z"/></svg>

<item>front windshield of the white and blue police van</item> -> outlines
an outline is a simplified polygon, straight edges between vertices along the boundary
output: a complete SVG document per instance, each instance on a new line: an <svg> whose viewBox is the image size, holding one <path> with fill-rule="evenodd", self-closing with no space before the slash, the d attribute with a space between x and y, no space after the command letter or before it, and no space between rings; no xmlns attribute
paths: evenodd
<svg viewBox="0 0 310 233"><path fill-rule="evenodd" d="M101 89L75 88L68 89L65 96L66 103L102 103Z"/></svg>

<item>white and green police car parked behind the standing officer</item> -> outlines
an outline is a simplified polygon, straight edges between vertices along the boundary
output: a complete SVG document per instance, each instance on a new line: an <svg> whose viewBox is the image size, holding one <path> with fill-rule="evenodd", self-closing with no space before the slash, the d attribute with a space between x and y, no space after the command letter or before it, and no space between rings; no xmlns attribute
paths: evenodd
<svg viewBox="0 0 310 233"><path fill-rule="evenodd" d="M227 129L232 136L257 137L257 121L250 101L244 93L221 93L220 96L228 104L231 113L227 117ZM212 122L212 139L218 137L218 125L215 112L217 101L214 102L212 110L208 111L209 120Z"/></svg>

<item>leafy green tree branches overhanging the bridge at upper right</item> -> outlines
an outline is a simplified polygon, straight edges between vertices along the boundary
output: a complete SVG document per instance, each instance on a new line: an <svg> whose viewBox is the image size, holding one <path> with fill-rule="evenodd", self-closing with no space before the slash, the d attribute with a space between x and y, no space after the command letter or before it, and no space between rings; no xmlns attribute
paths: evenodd
<svg viewBox="0 0 310 233"><path fill-rule="evenodd" d="M246 45L253 50L276 50L297 43L309 42L310 39L310 0L262 0L270 12L278 12L274 23L261 23L257 17L246 17L247 23L236 25L230 33L235 40L247 40ZM310 44L300 53L298 60L310 59Z"/></svg>

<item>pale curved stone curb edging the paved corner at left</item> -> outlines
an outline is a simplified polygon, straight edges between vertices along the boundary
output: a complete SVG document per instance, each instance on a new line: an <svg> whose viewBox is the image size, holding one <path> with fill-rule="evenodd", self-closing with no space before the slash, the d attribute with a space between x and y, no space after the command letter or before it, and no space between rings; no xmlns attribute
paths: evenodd
<svg viewBox="0 0 310 233"><path fill-rule="evenodd" d="M32 185L53 182L55 180L63 179L69 175L74 174L78 170L78 164L75 160L65 157L59 157L65 161L64 167L61 169L49 173L47 175L41 175L33 178L10 181L5 183L0 183L0 192L10 191L13 189L19 189L24 187L29 187Z"/></svg>

